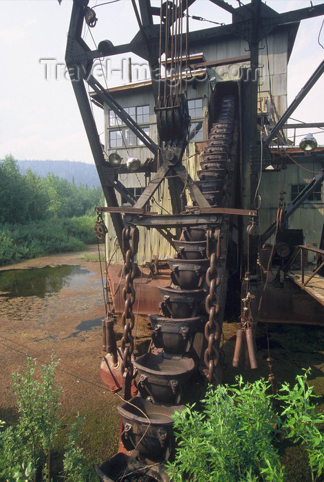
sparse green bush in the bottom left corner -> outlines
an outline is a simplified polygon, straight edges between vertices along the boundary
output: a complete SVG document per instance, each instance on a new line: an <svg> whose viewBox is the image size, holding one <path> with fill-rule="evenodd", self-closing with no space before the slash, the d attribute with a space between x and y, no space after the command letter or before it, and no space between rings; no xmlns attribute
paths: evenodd
<svg viewBox="0 0 324 482"><path fill-rule="evenodd" d="M35 368L36 364L28 357L25 372L12 375L19 421L16 426L8 428L4 428L0 421L0 480L50 482L54 476L70 482L98 480L77 445L82 423L80 417L67 434L63 475L53 473L52 450L62 428L58 414L61 388L54 381L56 362L53 359L41 367L41 381L35 377Z"/></svg>

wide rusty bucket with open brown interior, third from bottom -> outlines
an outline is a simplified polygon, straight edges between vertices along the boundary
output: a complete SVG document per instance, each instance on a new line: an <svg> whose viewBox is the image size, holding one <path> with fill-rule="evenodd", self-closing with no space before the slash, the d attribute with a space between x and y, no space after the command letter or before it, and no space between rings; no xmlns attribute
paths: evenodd
<svg viewBox="0 0 324 482"><path fill-rule="evenodd" d="M170 356L164 353L145 353L133 364L138 369L138 388L143 398L152 397L164 404L180 404L182 386L195 370L192 358Z"/></svg>

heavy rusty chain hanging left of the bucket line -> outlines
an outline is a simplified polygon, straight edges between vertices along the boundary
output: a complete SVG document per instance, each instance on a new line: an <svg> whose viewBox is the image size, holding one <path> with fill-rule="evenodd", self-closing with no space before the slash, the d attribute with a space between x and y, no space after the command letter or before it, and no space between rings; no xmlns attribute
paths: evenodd
<svg viewBox="0 0 324 482"><path fill-rule="evenodd" d="M125 255L125 264L122 268L125 276L125 288L122 290L122 300L124 302L124 313L122 313L122 326L124 333L121 340L122 351L122 370L127 371L129 377L133 375L133 364L131 362L134 342L132 330L135 322L133 314L133 304L135 303L135 289L133 280L138 271L138 265L133 261L138 251L138 228L125 228L122 231L122 252Z"/></svg>

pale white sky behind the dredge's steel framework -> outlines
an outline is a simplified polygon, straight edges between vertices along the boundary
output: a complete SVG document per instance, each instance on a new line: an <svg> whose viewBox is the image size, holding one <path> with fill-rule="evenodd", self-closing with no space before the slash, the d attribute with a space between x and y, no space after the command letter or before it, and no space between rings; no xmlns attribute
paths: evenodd
<svg viewBox="0 0 324 482"><path fill-rule="evenodd" d="M89 6L106 0L90 1ZM233 6L237 1L228 0ZM246 3L244 0L243 3ZM309 0L268 0L268 6L286 12L310 6ZM313 0L313 5L323 1ZM160 0L157 3L160 6ZM0 158L12 154L22 159L80 160L92 163L85 129L76 105L69 80L56 67L45 78L41 59L55 59L64 63L66 35L72 10L72 0L1 0L3 21L0 24ZM208 0L197 0L189 9L191 15L229 23L231 16ZM111 40L114 45L127 43L138 32L131 0L120 0L96 8L98 23L91 29L96 42ZM298 94L316 67L321 63L324 50L318 45L318 33L323 17L301 22L288 69L288 103ZM192 21L192 27L210 28L212 23ZM85 40L94 48L89 32ZM324 45L324 27L321 32ZM127 59L127 54L125 59ZM122 59L111 57L110 68L120 70ZM294 112L293 117L304 122L324 121L323 78ZM112 74L108 85L125 82L118 73ZM103 83L103 81L102 81ZM102 132L102 110L94 107L98 130ZM307 134L318 129L299 129ZM324 134L315 134L324 144ZM104 137L102 136L102 141ZM299 138L301 139L301 138Z"/></svg>

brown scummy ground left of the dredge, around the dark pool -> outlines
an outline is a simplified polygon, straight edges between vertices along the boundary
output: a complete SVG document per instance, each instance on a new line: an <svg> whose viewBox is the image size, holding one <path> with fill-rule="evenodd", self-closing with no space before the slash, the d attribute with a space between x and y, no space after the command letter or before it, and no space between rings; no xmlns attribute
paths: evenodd
<svg viewBox="0 0 324 482"><path fill-rule="evenodd" d="M87 254L98 254L97 247L87 249ZM3 267L0 275L5 270L61 264L90 271L85 284L63 287L45 298L10 298L0 293L0 419L10 423L17 415L11 374L25 369L26 356L41 365L53 354L59 360L56 381L63 389L63 425L69 426L77 413L83 416L81 445L90 462L101 462L118 449L120 397L111 394L99 376L101 319L105 317L100 263L86 261L84 251L63 253ZM138 317L138 324L142 345L149 342L150 332L144 333L148 321Z"/></svg>

